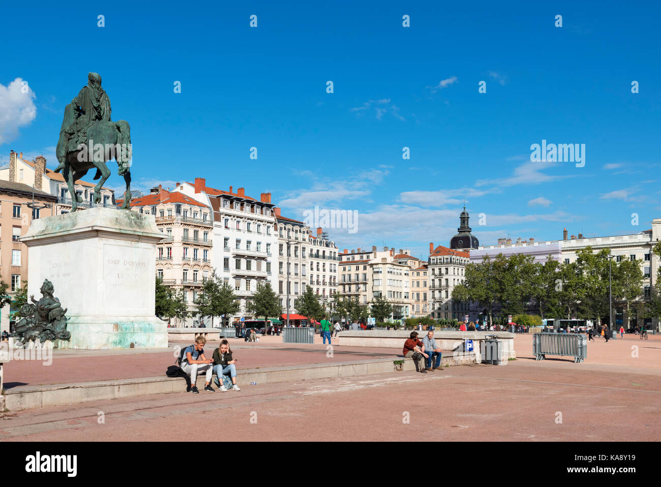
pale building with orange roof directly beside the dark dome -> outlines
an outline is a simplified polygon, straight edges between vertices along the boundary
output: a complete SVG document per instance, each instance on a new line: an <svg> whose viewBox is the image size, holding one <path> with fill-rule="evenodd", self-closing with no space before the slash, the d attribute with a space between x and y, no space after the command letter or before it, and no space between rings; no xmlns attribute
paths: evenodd
<svg viewBox="0 0 661 487"><path fill-rule="evenodd" d="M465 279L466 264L471 262L471 254L434 243L429 244L429 311L435 319L463 320L469 314L469 303L455 302L452 290Z"/></svg>

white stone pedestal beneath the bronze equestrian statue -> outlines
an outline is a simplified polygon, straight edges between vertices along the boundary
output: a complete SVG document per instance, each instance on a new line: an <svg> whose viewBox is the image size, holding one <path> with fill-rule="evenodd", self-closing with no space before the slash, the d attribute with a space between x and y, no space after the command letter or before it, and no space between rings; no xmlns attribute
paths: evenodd
<svg viewBox="0 0 661 487"><path fill-rule="evenodd" d="M167 324L154 314L156 244L152 215L95 207L33 220L28 296L50 280L71 340L58 348L166 348Z"/></svg>

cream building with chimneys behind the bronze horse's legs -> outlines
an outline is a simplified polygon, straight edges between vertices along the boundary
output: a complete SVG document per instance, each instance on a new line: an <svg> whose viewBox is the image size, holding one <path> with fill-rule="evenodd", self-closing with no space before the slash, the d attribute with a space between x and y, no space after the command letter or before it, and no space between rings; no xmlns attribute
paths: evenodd
<svg viewBox="0 0 661 487"><path fill-rule="evenodd" d="M93 171L88 173L90 178L93 177L93 174ZM16 153L15 151L11 151L9 153L9 164L0 167L0 180L34 186L35 190L56 196L58 201L54 207L54 215L61 215L71 211L71 195L69 194L69 186L67 186L64 176L62 176L61 172L54 172L48 169L46 167L46 158L43 155L29 161L23 159L22 152ZM75 192L83 200L82 203L78 204L78 207L104 206L116 208L114 191L106 187L102 187L100 190L101 201L98 204L94 203L95 186L96 184L82 179L74 182Z"/></svg>

